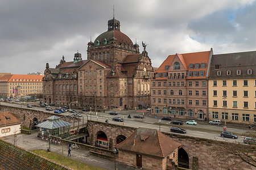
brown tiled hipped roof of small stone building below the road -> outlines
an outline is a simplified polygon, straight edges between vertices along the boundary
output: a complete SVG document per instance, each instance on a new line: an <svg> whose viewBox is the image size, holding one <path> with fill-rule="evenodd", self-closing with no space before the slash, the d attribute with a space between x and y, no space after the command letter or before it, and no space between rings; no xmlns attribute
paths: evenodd
<svg viewBox="0 0 256 170"><path fill-rule="evenodd" d="M180 143L158 130L139 127L116 148L144 155L166 157L180 146Z"/></svg>

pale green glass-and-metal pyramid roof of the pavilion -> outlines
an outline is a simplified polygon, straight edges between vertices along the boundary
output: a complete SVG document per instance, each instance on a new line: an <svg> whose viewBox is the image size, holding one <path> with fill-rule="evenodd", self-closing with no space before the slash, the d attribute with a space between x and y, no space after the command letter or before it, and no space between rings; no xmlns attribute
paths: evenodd
<svg viewBox="0 0 256 170"><path fill-rule="evenodd" d="M60 117L56 117L53 115L52 117L49 117L46 122L38 124L37 127L47 128L47 129L55 129L60 128L64 126L69 126L71 123L65 122L60 120Z"/></svg>

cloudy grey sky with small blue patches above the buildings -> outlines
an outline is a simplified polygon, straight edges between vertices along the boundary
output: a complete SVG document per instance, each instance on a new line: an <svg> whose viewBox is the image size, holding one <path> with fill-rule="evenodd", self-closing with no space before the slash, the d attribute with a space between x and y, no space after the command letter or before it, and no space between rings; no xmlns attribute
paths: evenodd
<svg viewBox="0 0 256 170"><path fill-rule="evenodd" d="M256 1L253 0L131 0L0 2L0 72L27 74L51 68L64 55L87 59L94 41L107 31L108 20L135 43L146 42L153 67L168 55L209 51L214 54L256 50Z"/></svg>

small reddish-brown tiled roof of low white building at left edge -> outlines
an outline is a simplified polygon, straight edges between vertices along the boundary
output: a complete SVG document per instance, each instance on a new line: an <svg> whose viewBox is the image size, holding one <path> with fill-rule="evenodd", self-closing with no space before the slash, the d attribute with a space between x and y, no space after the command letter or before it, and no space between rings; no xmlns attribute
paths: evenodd
<svg viewBox="0 0 256 170"><path fill-rule="evenodd" d="M0 127L19 125L20 120L9 112L0 113Z"/></svg>

